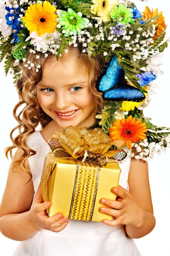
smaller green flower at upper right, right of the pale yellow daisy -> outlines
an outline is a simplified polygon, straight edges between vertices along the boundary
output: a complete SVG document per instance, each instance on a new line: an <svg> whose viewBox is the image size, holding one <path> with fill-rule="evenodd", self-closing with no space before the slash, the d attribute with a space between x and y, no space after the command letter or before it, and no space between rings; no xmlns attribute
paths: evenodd
<svg viewBox="0 0 170 256"><path fill-rule="evenodd" d="M133 9L126 8L125 4L120 4L119 7L115 6L114 9L111 9L110 12L111 18L116 19L118 22L121 22L122 25L134 23L135 20L133 17Z"/></svg>

